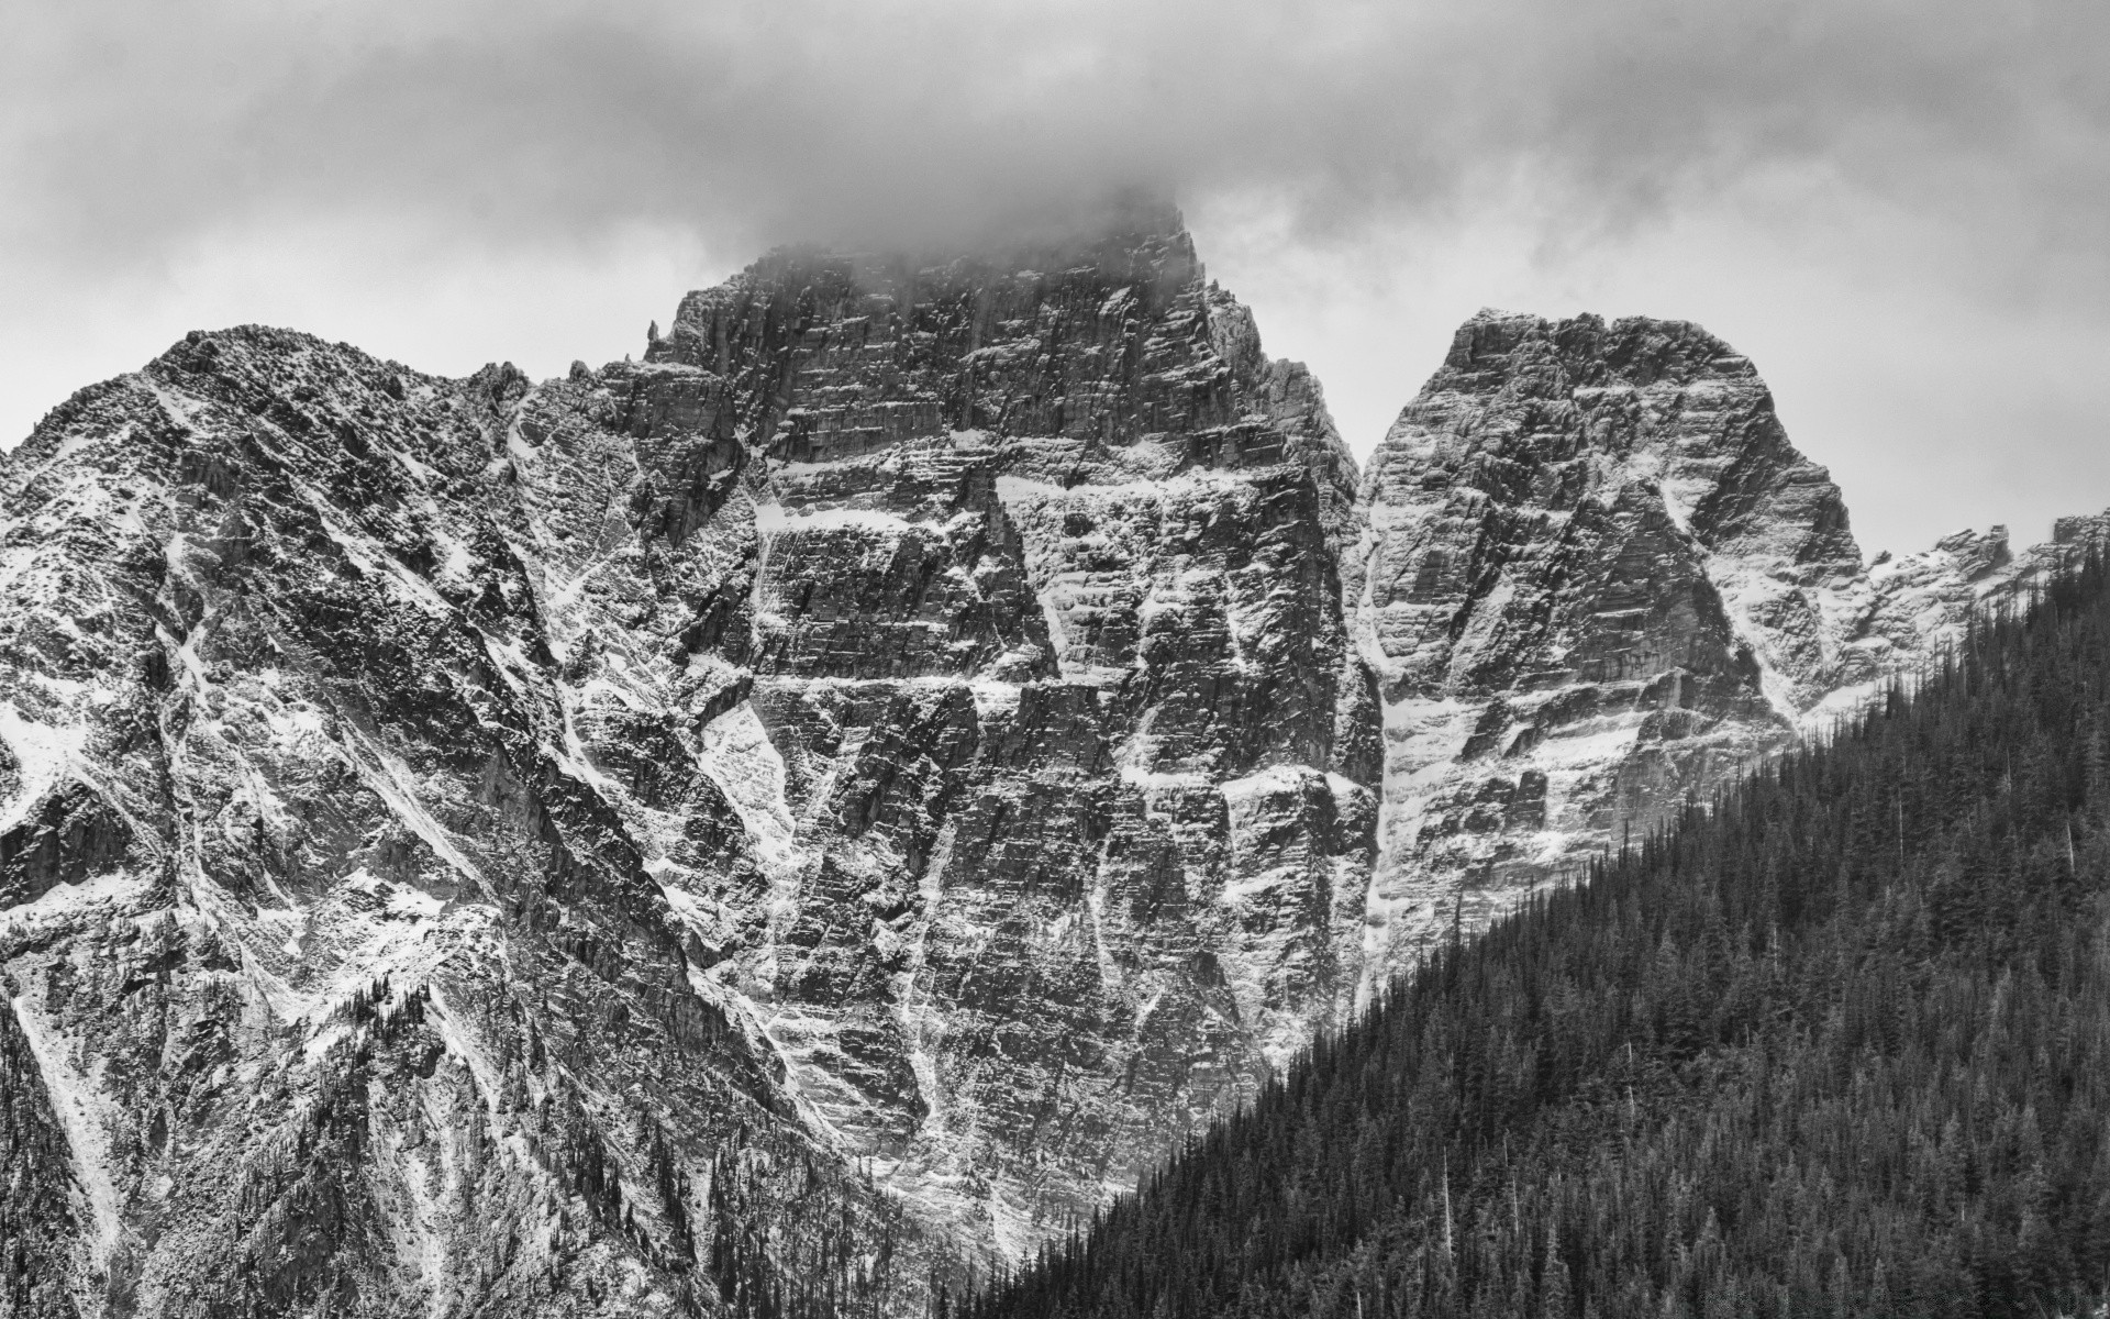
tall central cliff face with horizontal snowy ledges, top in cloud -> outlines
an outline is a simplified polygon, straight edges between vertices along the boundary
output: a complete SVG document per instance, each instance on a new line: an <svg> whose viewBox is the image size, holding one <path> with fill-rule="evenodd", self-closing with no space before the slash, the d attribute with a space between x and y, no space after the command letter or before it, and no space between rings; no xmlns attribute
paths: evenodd
<svg viewBox="0 0 2110 1319"><path fill-rule="evenodd" d="M1019 1251L1334 1011L1376 819L1353 462L1173 226L779 255L648 357L749 456L709 532L741 616L686 663L760 840L660 878L812 1123Z"/></svg>

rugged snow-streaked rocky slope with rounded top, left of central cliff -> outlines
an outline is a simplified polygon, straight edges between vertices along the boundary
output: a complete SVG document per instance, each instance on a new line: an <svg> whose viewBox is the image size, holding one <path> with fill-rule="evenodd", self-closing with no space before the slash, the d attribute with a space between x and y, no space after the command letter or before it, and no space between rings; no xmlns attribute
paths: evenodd
<svg viewBox="0 0 2110 1319"><path fill-rule="evenodd" d="M692 983L654 865L745 848L736 817L679 762L639 815L580 734L618 661L551 618L627 601L559 608L528 395L243 329L8 456L19 1313L667 1313L766 1251L855 1292L821 1251L899 1237ZM610 549L711 580L701 540Z"/></svg>

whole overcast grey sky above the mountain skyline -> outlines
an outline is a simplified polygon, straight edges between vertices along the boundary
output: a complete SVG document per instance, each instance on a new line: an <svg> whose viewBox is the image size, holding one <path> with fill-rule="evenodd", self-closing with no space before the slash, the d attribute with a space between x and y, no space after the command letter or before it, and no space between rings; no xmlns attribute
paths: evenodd
<svg viewBox="0 0 2110 1319"><path fill-rule="evenodd" d="M1479 306L1756 359L1863 549L2110 504L2110 4L0 6L0 443L192 327L635 352L789 238L1150 184L1359 454Z"/></svg>

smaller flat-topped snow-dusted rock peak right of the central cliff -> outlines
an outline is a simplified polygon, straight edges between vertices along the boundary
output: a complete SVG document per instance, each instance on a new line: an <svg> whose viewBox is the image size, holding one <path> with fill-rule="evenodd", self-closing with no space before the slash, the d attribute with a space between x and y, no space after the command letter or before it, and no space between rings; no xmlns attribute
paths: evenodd
<svg viewBox="0 0 2110 1319"><path fill-rule="evenodd" d="M1751 363L1481 312L1369 460L1344 570L1386 724L1361 988L1821 728L2040 580L2004 528L1872 572Z"/></svg>

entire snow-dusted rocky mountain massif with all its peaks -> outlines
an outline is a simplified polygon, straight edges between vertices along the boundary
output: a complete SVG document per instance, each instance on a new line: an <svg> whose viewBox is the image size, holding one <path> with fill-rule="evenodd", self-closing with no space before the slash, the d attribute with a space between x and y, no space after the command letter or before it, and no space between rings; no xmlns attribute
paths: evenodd
<svg viewBox="0 0 2110 1319"><path fill-rule="evenodd" d="M1163 209L194 333L0 464L0 1313L922 1313L2106 530L1863 566L1675 321L1359 479Z"/></svg>

